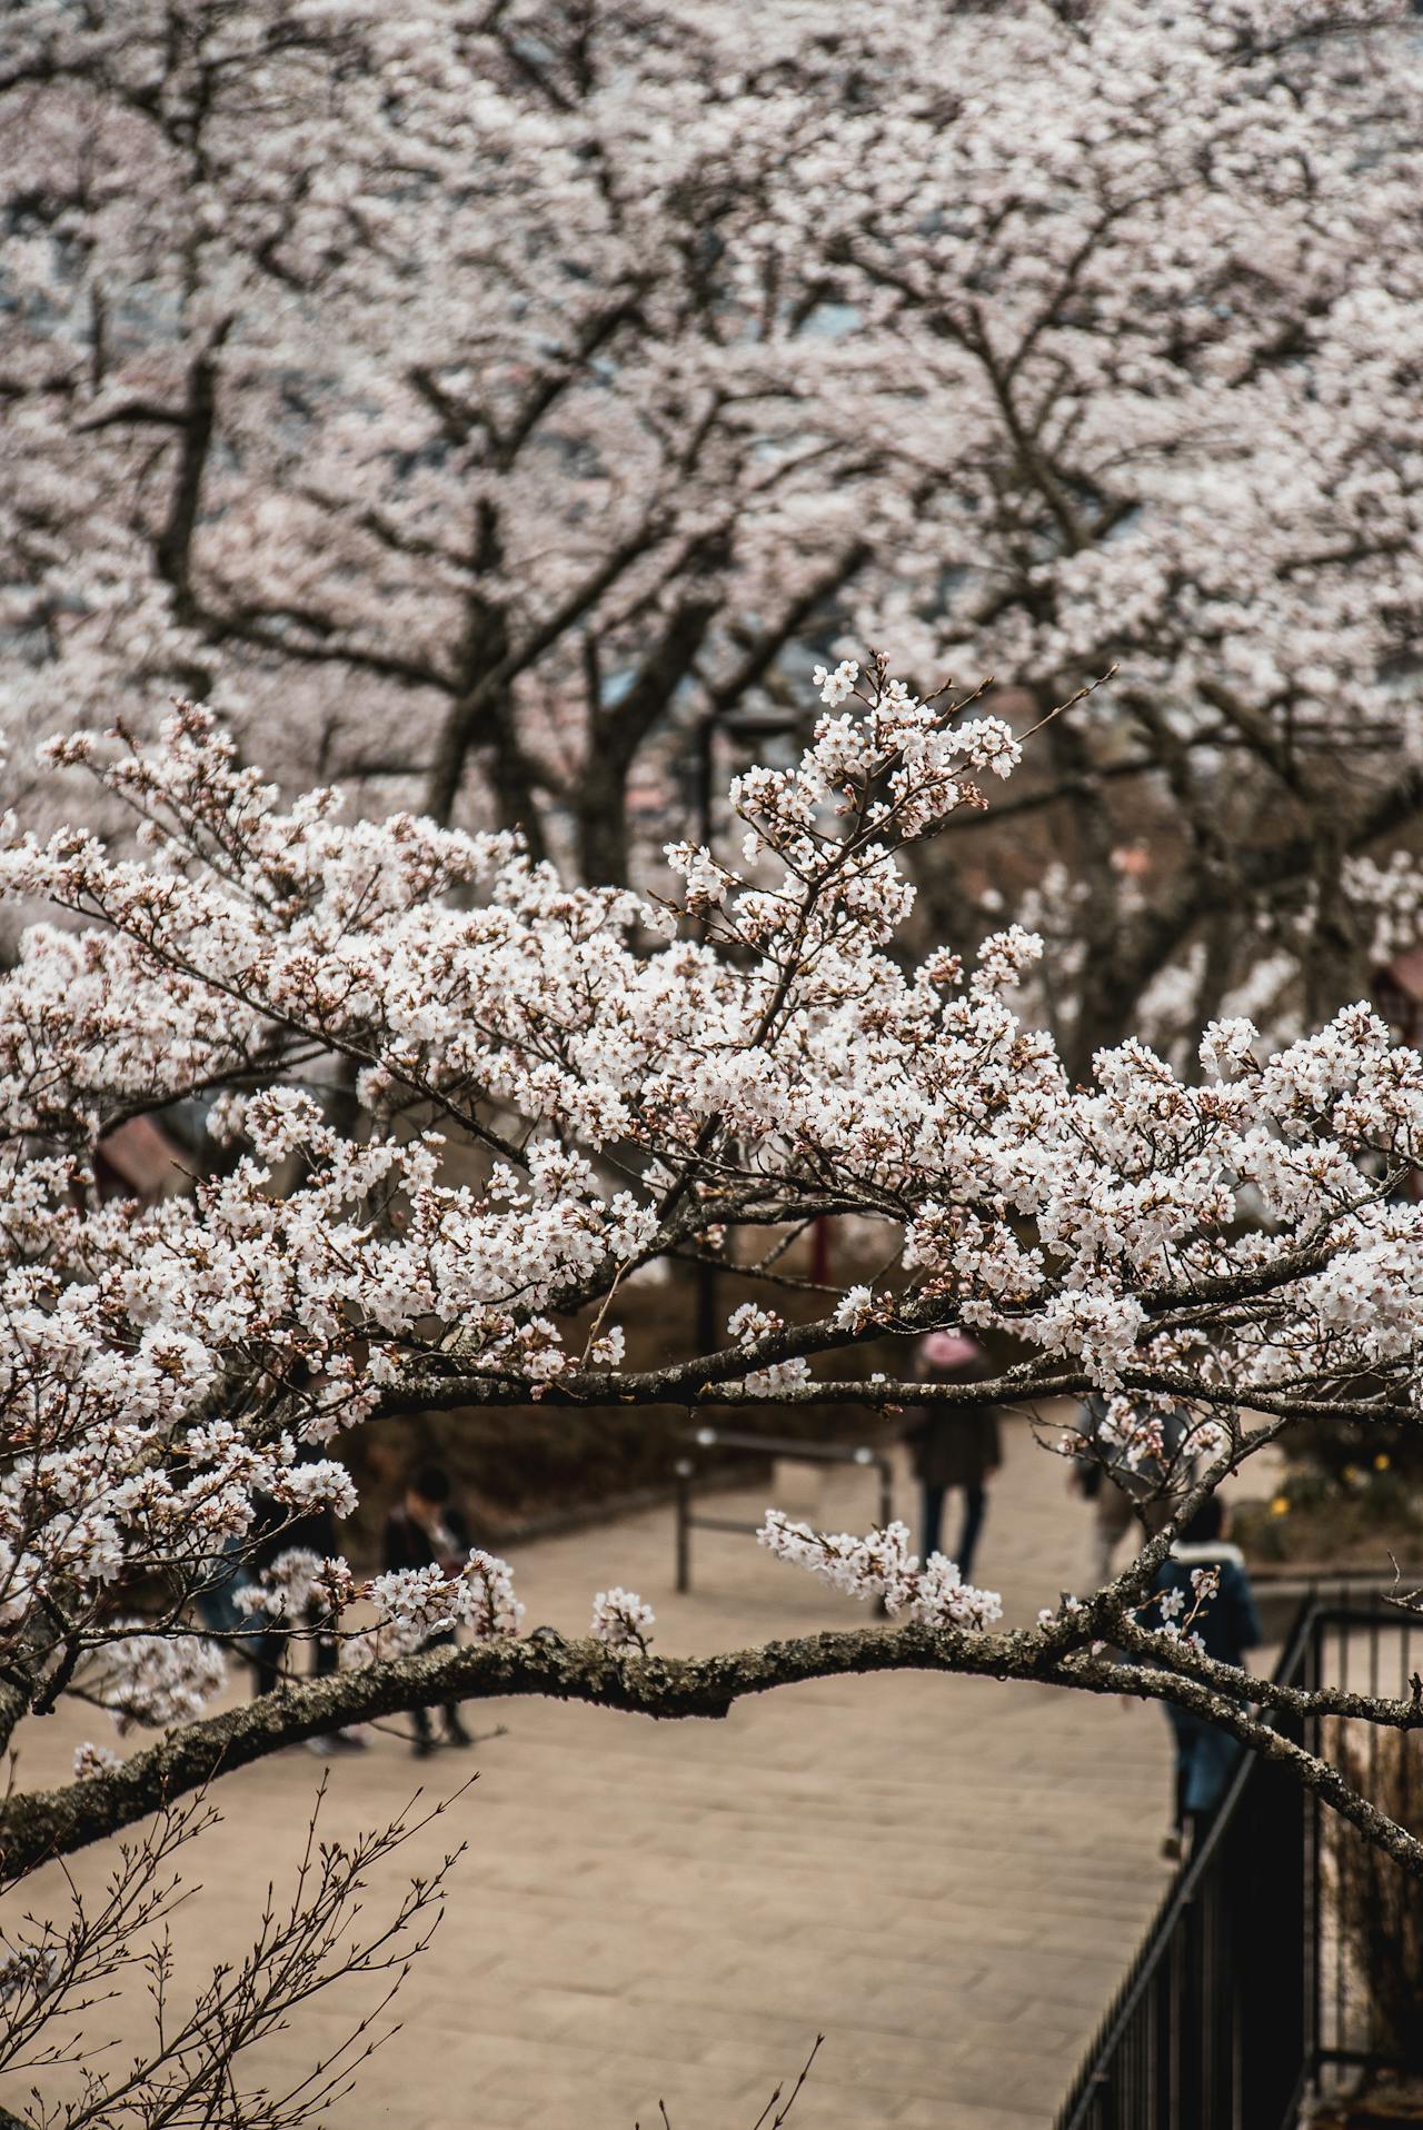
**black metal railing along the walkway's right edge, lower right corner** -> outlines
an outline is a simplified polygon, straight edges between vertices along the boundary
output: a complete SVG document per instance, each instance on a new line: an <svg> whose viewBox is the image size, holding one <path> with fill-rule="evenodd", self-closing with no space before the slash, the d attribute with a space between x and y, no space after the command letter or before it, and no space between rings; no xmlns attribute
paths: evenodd
<svg viewBox="0 0 1423 2130"><path fill-rule="evenodd" d="M1419 1632L1376 1593L1312 1593L1274 1678L1404 1698ZM1348 1762L1378 1793L1376 1725L1276 1727ZM1393 2062L1351 1936L1357 1874L1378 1894L1397 1866L1287 1768L1244 1755L1165 1889L1057 2130L1293 2130L1306 2090Z"/></svg>

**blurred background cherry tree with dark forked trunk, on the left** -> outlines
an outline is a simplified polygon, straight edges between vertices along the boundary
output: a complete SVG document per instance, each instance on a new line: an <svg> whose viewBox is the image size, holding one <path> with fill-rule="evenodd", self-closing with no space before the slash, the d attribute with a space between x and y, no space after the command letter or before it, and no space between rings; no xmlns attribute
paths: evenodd
<svg viewBox="0 0 1423 2130"><path fill-rule="evenodd" d="M479 765L624 880L658 722L765 686L907 507L865 351L765 228L827 21L36 9L4 109L38 701L217 690L275 767L441 820Z"/></svg>

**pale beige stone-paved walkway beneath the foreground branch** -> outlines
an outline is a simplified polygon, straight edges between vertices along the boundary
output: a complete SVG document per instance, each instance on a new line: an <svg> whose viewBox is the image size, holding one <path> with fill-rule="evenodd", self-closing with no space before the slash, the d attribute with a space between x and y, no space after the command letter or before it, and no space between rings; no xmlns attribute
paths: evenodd
<svg viewBox="0 0 1423 2130"><path fill-rule="evenodd" d="M1025 1423L1005 1438L980 1578L1027 1621L1082 1587L1089 1512ZM835 1529L873 1519L867 1472L788 1468L775 1497ZM758 1487L716 1512L763 1506ZM694 1534L694 1589L675 1598L671 1510L528 1546L516 1572L528 1621L565 1632L594 1589L639 1589L667 1651L858 1617L722 1534ZM660 2100L671 2130L752 2130L816 2032L799 2130L1046 2130L1165 1879L1167 1727L1146 1706L905 1674L780 1691L724 1723L533 1702L477 1721L473 1755L415 1770L379 1736L332 1768L328 1832L388 1819L418 1776L439 1796L479 1768L449 1815L469 1855L405 2026L332 2130L663 2130ZM58 1772L75 1736L55 1719L21 1779ZM251 1930L315 1772L292 1751L219 1785L185 1957ZM79 1864L100 1877L98 1851ZM264 2070L305 2068L349 2002L309 2006Z"/></svg>

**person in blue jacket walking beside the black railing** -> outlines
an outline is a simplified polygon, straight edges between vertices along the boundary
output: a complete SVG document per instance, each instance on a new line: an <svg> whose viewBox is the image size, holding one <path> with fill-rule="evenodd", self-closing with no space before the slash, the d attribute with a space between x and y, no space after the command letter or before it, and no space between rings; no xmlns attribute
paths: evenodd
<svg viewBox="0 0 1423 2130"><path fill-rule="evenodd" d="M1157 1570L1152 1587L1157 1598L1167 1600L1165 1617L1174 1612L1182 1623L1191 1617L1197 1602L1191 1576L1197 1568L1218 1570L1221 1587L1195 1612L1189 1632L1199 1636L1206 1655L1214 1657L1216 1664L1242 1666L1246 1649L1259 1644L1259 1615L1240 1546L1225 1542L1225 1504L1214 1493L1187 1519L1180 1538ZM1146 1621L1157 1625L1152 1612L1146 1615ZM1225 1785L1240 1757L1240 1742L1187 1708L1174 1708L1167 1702L1165 1713L1176 1738L1176 1815L1163 1855L1176 1859L1191 1851L1191 1840L1225 1796Z"/></svg>

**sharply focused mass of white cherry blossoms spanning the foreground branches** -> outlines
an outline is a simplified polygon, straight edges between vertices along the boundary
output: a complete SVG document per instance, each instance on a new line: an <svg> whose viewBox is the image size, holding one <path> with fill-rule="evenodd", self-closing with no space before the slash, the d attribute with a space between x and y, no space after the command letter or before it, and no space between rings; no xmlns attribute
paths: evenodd
<svg viewBox="0 0 1423 2130"><path fill-rule="evenodd" d="M1276 1054L1212 1025L1199 1080L1129 1042L1074 1086L1012 1003L1035 939L1010 927L967 967L895 944L903 846L980 803L1012 735L880 667L844 682L795 767L739 782L752 856L690 914L571 890L507 835L283 807L192 707L153 752L66 743L147 854L0 837L0 895L68 914L0 976L0 1623L36 1678L121 1640L126 1585L181 1606L258 1534L349 1514L326 1448L377 1410L635 1384L622 1282L737 1223L867 1220L899 1265L795 1329L743 1304L716 1395L814 1397L818 1350L961 1321L1035 1353L1023 1395L1065 1374L1116 1399L1127 1463L1167 1412L1199 1451L1242 1408L1357 1404L1361 1378L1417 1406L1419 1056L1359 1005ZM226 1172L100 1199L96 1140L198 1088ZM705 1359L671 1387L697 1395ZM358 1595L298 1540L251 1598L268 1621ZM901 1617L991 1617L950 1563L910 1587L893 1534L797 1542ZM354 1661L518 1627L484 1557L369 1595ZM190 1706L187 1649L173 1681L113 1659L115 1706Z"/></svg>

